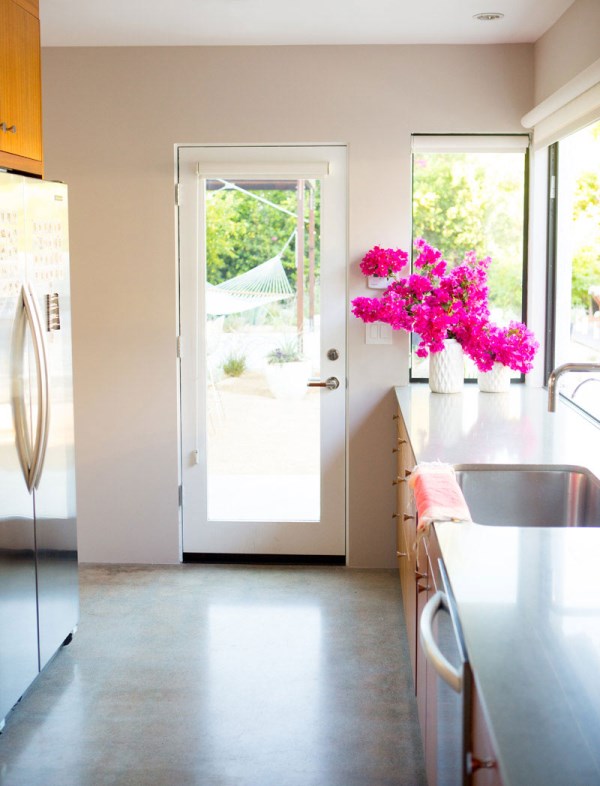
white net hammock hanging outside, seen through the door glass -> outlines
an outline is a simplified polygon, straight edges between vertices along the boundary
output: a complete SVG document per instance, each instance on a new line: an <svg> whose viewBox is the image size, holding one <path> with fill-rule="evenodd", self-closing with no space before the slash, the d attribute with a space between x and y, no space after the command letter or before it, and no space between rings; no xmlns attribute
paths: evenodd
<svg viewBox="0 0 600 786"><path fill-rule="evenodd" d="M239 314L277 300L294 297L281 257L295 232L277 256L268 259L240 276L216 286L206 282L206 313L211 316Z"/></svg>

